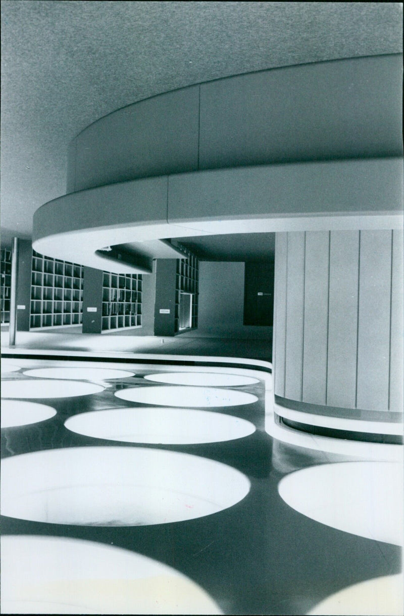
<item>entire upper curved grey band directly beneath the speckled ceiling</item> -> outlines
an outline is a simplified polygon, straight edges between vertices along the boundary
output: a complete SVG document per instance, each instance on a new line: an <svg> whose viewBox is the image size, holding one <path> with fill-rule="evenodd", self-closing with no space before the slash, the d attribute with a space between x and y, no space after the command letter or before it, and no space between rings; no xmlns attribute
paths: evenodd
<svg viewBox="0 0 404 616"><path fill-rule="evenodd" d="M68 192L202 169L400 156L400 55L317 62L167 92L73 140Z"/></svg>

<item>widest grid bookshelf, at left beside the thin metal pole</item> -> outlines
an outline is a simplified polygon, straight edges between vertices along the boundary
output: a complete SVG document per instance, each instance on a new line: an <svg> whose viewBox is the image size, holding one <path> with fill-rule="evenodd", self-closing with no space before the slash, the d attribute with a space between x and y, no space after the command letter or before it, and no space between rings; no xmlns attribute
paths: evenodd
<svg viewBox="0 0 404 616"><path fill-rule="evenodd" d="M83 266L33 250L30 328L81 325Z"/></svg>

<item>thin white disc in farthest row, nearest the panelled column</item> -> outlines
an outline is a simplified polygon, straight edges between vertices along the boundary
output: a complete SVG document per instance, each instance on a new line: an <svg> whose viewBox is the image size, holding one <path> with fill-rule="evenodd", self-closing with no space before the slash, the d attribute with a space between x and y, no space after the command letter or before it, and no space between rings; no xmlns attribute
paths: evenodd
<svg viewBox="0 0 404 616"><path fill-rule="evenodd" d="M227 375L215 372L163 372L156 375L146 375L145 379L157 383L195 385L198 387L238 387L259 383L258 379L251 376Z"/></svg>

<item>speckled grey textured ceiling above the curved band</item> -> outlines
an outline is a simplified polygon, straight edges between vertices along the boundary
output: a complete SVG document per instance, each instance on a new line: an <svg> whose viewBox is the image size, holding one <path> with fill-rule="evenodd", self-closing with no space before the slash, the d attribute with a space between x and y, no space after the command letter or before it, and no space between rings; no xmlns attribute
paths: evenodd
<svg viewBox="0 0 404 616"><path fill-rule="evenodd" d="M400 2L3 0L2 244L66 192L68 144L137 100L248 71L402 51Z"/></svg>

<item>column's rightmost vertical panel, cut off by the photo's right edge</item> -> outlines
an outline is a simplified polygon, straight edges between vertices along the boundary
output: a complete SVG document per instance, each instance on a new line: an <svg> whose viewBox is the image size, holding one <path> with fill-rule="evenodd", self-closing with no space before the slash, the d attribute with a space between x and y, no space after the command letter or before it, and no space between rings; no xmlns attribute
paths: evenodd
<svg viewBox="0 0 404 616"><path fill-rule="evenodd" d="M390 395L389 410L403 411L403 282L404 245L403 232L395 230L392 237L392 288L391 288L391 329L390 329Z"/></svg>

